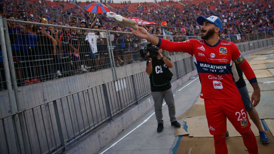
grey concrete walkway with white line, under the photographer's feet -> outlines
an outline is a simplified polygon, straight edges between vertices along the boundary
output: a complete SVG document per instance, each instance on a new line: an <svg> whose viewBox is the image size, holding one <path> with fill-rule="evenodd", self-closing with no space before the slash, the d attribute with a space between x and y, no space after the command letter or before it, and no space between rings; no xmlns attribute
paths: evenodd
<svg viewBox="0 0 274 154"><path fill-rule="evenodd" d="M272 50L274 49L272 48ZM252 54L251 57L260 57L260 55L258 55L257 53ZM274 54L272 56L274 56ZM250 61L250 59L248 59L248 61ZM273 85L274 83L270 84ZM195 79L188 80L186 83L184 83L175 91L173 91L176 106L176 117L180 116L190 107L192 107L192 105L196 102L200 94L200 89L201 85L198 80L198 75L196 75ZM271 99L274 100L274 90L271 91L272 95L267 97L272 97ZM264 96L262 95L262 97ZM261 100L263 99L262 97ZM165 104L165 102L163 103L162 111L164 120L163 132L157 132L157 120L155 118L154 108L151 108L147 113L145 113L142 117L135 121L131 126L129 126L121 134L119 134L119 136L112 140L112 142L105 146L99 153L176 153L178 146L177 143L179 143L181 137L174 136L174 126L170 125L168 107ZM178 122L183 124L183 119L179 119Z"/></svg>

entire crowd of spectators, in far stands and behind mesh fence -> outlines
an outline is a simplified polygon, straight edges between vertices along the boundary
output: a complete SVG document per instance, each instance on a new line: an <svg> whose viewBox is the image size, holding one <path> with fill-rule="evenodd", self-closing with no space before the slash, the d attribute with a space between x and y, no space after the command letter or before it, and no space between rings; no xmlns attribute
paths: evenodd
<svg viewBox="0 0 274 154"><path fill-rule="evenodd" d="M92 28L129 32L128 27L113 23L105 14L93 14L84 8L94 1L86 3L77 0L66 1L0 1L0 15L14 20L42 22L53 25ZM162 35L162 27L172 35L198 36L200 26L195 22L197 16L218 16L223 21L222 35L234 35L273 31L272 1L161 1L156 3L131 3L131 1L102 1L110 10L125 17L137 17L155 22L158 26L141 25L151 34ZM183 3L183 4L181 4ZM111 6L111 7L110 7ZM116 6L116 7L115 7ZM43 10L43 11L41 11ZM56 15L57 11L61 13ZM65 15L76 16L65 21ZM44 20L44 18L46 20ZM16 66L18 85L38 83L54 76L69 76L87 69L96 71L109 67L106 38L99 38L99 32L36 26L32 24L15 24L8 22L10 42ZM168 28L169 27L169 28ZM173 27L177 27L177 31ZM97 55L92 49L92 42L85 40L89 32L94 32L97 41ZM111 42L115 56L115 65L123 66L140 60L138 51L147 43L133 35L111 33ZM178 37L179 38L179 37ZM181 41L179 39L174 41ZM1 49L0 49L1 50ZM97 51L96 51L97 52ZM88 55L88 57L87 57ZM67 58L66 58L67 57ZM46 60L44 60L46 59ZM50 62L49 62L50 60ZM50 63L50 64L49 64ZM3 57L0 52L0 67L3 68ZM19 69L23 68L23 69ZM0 69L0 90L5 81L5 72ZM1 85L2 84L2 85Z"/></svg>

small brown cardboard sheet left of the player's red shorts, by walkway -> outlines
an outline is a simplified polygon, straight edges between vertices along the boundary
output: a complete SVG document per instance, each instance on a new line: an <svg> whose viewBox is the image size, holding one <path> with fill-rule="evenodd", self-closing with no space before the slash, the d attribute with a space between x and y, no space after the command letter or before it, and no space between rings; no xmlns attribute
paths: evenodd
<svg viewBox="0 0 274 154"><path fill-rule="evenodd" d="M198 115L205 115L204 105L202 104L199 104L199 105L194 104L190 109L185 111L185 113L183 113L176 119L183 119L184 117L187 118L187 117L194 117Z"/></svg>

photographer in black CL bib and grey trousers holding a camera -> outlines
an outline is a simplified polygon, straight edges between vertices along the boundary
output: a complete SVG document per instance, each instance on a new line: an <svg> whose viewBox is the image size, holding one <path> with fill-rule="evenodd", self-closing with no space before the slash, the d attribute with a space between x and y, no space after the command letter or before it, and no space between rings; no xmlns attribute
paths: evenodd
<svg viewBox="0 0 274 154"><path fill-rule="evenodd" d="M155 45L148 44L144 48L144 52L147 52L147 67L146 72L149 75L151 93L154 100L154 110L158 123L157 132L162 132L164 128L162 103L165 99L168 105L168 113L172 126L181 127L180 123L176 121L175 117L175 104L173 93L171 89L170 80L166 79L164 69L172 68L173 63L170 58L166 58L162 55L162 49L159 49Z"/></svg>

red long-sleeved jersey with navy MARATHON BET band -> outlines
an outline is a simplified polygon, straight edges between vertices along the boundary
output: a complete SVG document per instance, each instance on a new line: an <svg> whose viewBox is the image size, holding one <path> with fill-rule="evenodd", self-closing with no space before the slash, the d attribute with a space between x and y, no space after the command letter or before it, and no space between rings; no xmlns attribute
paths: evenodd
<svg viewBox="0 0 274 154"><path fill-rule="evenodd" d="M198 39L171 42L159 38L157 47L170 52L187 52L193 57L202 85L201 98L241 98L232 74L233 61L243 70L250 83L257 82L250 65L232 42L219 40L212 46Z"/></svg>

